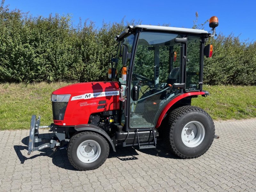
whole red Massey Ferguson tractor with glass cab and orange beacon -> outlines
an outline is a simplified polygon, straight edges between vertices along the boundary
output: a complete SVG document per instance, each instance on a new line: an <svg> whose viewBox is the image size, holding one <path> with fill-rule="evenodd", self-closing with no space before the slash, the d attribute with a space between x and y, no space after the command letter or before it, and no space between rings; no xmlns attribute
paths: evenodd
<svg viewBox="0 0 256 192"><path fill-rule="evenodd" d="M203 91L204 56L212 56L218 18L205 30L151 25L128 26L116 36L118 50L111 58L108 82L71 84L52 92L53 124L40 126L32 116L28 155L44 148L67 148L77 170L100 167L109 146L156 148L162 136L180 158L196 158L211 146L212 118L191 99ZM51 139L38 129L50 127ZM157 131L159 130L159 132ZM35 143L44 144L35 147Z"/></svg>

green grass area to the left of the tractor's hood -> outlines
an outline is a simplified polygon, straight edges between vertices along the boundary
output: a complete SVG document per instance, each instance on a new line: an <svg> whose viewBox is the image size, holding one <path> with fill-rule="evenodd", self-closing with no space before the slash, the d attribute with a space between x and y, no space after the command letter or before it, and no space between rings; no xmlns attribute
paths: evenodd
<svg viewBox="0 0 256 192"><path fill-rule="evenodd" d="M0 84L0 130L29 129L32 115L52 123L51 94L68 83Z"/></svg>

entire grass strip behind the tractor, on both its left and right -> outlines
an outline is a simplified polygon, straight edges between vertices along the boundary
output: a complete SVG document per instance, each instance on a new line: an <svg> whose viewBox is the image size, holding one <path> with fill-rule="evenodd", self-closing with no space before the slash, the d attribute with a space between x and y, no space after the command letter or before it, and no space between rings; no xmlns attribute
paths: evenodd
<svg viewBox="0 0 256 192"><path fill-rule="evenodd" d="M52 91L68 83L0 84L0 130L29 129L32 115L41 125L52 123ZM206 110L213 119L256 117L256 86L207 86L207 98L199 96L192 105Z"/></svg>

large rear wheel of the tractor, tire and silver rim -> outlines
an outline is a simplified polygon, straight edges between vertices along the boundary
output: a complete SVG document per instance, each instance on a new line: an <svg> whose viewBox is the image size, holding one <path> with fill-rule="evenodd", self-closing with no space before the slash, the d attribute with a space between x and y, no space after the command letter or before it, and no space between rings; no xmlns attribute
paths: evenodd
<svg viewBox="0 0 256 192"><path fill-rule="evenodd" d="M203 109L183 106L169 114L167 143L175 155L196 158L212 145L215 127L212 118Z"/></svg>

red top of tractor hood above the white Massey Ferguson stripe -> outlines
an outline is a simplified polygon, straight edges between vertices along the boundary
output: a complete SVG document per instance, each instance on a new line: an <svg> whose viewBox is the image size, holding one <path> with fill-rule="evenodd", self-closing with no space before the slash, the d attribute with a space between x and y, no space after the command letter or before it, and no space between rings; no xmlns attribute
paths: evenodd
<svg viewBox="0 0 256 192"><path fill-rule="evenodd" d="M111 92L119 90L118 82L87 82L77 83L61 87L52 92L54 95L78 95L84 93Z"/></svg>

